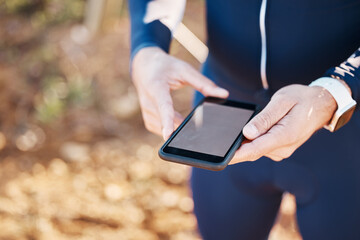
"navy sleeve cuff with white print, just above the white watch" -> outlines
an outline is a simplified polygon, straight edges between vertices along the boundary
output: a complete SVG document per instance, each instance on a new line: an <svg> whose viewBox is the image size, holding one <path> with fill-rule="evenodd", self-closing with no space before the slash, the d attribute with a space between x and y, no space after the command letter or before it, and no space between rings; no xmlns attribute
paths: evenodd
<svg viewBox="0 0 360 240"><path fill-rule="evenodd" d="M360 105L360 48L340 66L330 68L325 76L344 80L351 89L352 97Z"/></svg>

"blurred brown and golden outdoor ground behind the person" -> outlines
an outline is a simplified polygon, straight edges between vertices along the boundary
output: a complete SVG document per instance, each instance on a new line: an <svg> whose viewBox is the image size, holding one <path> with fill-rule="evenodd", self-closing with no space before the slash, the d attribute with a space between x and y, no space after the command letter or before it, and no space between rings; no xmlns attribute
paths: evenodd
<svg viewBox="0 0 360 240"><path fill-rule="evenodd" d="M204 16L188 0L202 41ZM201 239L190 168L143 126L129 27L122 0L0 0L0 239ZM173 96L187 114L191 89ZM269 239L301 239L294 214L286 194Z"/></svg>

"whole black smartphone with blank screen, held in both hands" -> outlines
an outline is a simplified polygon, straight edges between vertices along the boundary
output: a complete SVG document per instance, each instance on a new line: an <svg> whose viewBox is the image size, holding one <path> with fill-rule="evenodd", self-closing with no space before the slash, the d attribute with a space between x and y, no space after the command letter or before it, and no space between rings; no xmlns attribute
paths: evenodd
<svg viewBox="0 0 360 240"><path fill-rule="evenodd" d="M159 150L167 161L223 170L243 140L242 129L255 116L255 104L204 98Z"/></svg>

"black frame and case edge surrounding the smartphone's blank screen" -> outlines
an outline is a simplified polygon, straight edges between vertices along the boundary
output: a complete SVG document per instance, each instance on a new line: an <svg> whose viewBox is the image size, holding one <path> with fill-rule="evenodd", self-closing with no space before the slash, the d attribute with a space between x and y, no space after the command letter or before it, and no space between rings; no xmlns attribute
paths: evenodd
<svg viewBox="0 0 360 240"><path fill-rule="evenodd" d="M254 113L251 115L248 121L255 116L258 109L257 105L252 103L238 102L234 100L214 98L214 97L203 98L194 107L194 109L181 123L181 125L171 134L170 138L164 143L164 145L160 148L159 155L161 158L173 162L184 163L191 166L201 167L211 170L221 170L226 167L227 163L231 160L236 149L238 149L241 144L241 141L243 139L242 131L240 131L240 133L234 139L233 143L231 144L231 146L229 147L229 149L227 150L226 154L223 157L168 146L171 143L171 141L177 136L177 134L183 129L183 127L189 122L189 120L192 118L193 114L195 113L196 109L199 106L201 106L204 102L210 102L224 106L231 106L231 107L252 110L254 111Z"/></svg>

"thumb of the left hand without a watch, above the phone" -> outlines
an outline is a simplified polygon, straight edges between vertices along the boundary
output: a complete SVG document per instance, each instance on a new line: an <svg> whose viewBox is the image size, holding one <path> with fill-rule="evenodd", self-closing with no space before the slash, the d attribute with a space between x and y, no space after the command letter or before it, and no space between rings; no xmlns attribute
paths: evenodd
<svg viewBox="0 0 360 240"><path fill-rule="evenodd" d="M188 85L201 92L204 96L219 98L227 98L229 96L229 92L226 89L218 87L214 82L191 66L187 66L186 69L182 71L181 76Z"/></svg>

